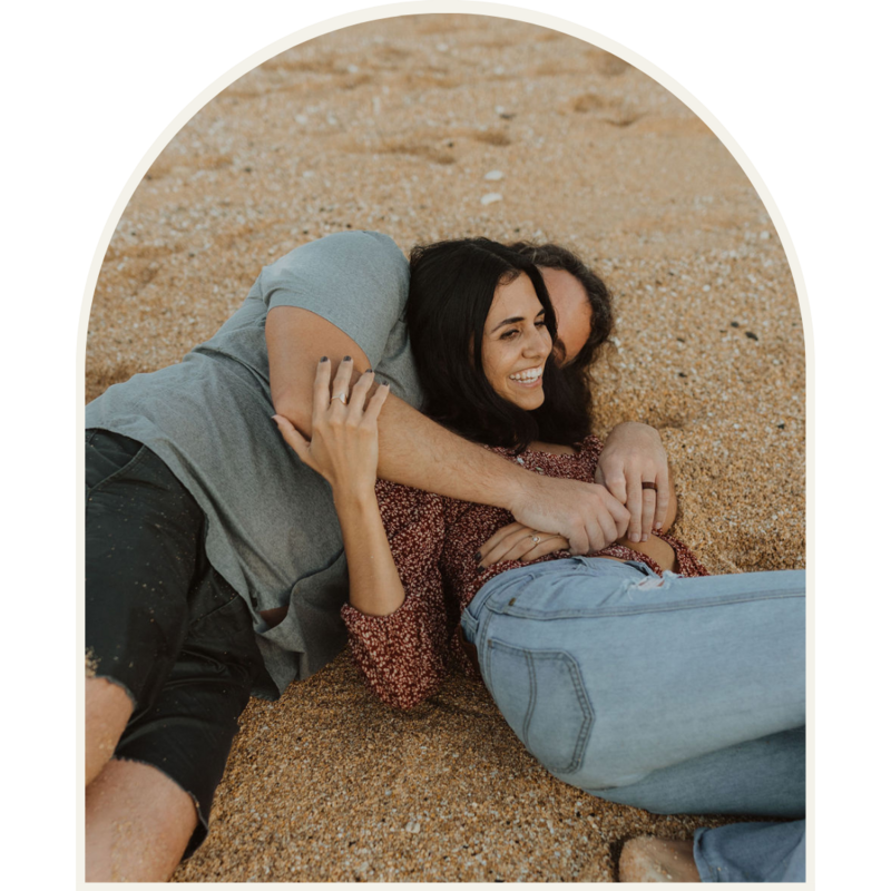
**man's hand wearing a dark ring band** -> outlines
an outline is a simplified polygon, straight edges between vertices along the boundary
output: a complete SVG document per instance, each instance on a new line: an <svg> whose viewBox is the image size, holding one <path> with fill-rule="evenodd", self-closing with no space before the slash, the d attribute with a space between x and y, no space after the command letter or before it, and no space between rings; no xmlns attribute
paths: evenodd
<svg viewBox="0 0 891 891"><path fill-rule="evenodd" d="M629 541L646 541L666 522L672 502L672 479L662 438L648 424L626 422L614 428L594 474L628 509ZM643 488L653 482L656 489Z"/></svg>

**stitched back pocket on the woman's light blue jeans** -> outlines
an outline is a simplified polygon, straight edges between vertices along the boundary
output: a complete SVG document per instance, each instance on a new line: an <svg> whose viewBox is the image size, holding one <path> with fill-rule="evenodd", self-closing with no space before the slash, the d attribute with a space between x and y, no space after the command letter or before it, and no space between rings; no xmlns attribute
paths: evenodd
<svg viewBox="0 0 891 891"><path fill-rule="evenodd" d="M501 714L529 752L551 773L575 773L595 718L576 660L562 650L490 638L484 674Z"/></svg>

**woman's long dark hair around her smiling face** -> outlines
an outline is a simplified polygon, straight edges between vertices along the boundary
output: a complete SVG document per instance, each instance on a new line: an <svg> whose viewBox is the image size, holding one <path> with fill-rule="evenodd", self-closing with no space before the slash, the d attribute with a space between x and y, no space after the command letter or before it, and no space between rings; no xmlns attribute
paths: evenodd
<svg viewBox="0 0 891 891"><path fill-rule="evenodd" d="M589 395L552 352L545 363L545 402L525 411L499 396L482 372L486 317L496 288L528 275L557 342L557 317L535 262L488 238L422 245L411 252L408 321L424 411L459 435L517 452L532 440L572 446L590 432ZM587 394L587 388L586 388Z"/></svg>

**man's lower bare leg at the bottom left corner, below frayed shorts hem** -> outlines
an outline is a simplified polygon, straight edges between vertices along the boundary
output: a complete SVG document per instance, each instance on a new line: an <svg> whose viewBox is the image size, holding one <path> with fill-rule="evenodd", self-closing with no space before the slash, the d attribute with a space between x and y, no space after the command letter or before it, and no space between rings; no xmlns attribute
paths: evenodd
<svg viewBox="0 0 891 891"><path fill-rule="evenodd" d="M109 761L87 787L87 881L167 881L197 825L192 796L159 770Z"/></svg>

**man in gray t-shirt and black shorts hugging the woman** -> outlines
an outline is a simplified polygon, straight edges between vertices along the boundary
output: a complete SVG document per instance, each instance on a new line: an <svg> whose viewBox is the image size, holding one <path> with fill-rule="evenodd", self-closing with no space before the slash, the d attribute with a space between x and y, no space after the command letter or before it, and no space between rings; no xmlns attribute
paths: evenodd
<svg viewBox="0 0 891 891"><path fill-rule="evenodd" d="M265 267L182 363L87 407L88 880L169 878L206 835L248 695L276 697L344 645L330 490L271 420L311 434L320 355L352 356L390 383L381 477L505 507L577 554L664 519L667 466L648 428L607 440L601 468L619 499L528 473L421 415L407 294L390 238L327 236ZM584 325L570 303L564 317ZM658 503L644 480L665 483Z"/></svg>

